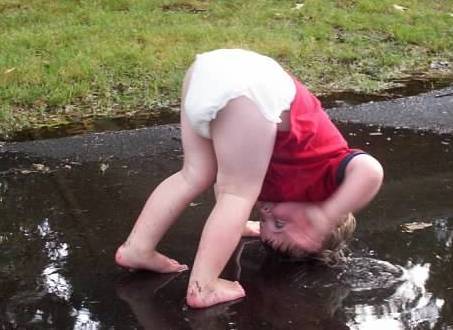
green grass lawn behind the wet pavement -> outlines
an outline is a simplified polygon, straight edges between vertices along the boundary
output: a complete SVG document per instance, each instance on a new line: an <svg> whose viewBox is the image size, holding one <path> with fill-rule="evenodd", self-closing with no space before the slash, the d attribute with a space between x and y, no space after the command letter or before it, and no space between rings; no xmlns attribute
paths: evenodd
<svg viewBox="0 0 453 330"><path fill-rule="evenodd" d="M404 7L395 7L399 5ZM2 0L0 131L177 102L196 53L278 59L316 93L453 66L451 0ZM398 9L399 8L399 9Z"/></svg>

